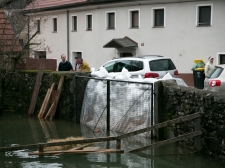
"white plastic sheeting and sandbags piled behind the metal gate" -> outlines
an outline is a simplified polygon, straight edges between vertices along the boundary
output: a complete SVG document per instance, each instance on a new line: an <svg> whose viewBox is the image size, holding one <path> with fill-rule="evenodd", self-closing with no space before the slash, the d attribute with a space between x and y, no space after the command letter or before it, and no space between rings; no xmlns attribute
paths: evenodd
<svg viewBox="0 0 225 168"><path fill-rule="evenodd" d="M135 81L154 83L158 80L175 79L178 85L187 86L180 78L167 73L162 79L130 78L127 69L121 73L108 73L104 68L93 71L92 76L102 80L90 79L82 105L80 121L92 128L106 129L107 81ZM151 125L151 89L153 85L129 82L110 82L110 130L127 133Z"/></svg>

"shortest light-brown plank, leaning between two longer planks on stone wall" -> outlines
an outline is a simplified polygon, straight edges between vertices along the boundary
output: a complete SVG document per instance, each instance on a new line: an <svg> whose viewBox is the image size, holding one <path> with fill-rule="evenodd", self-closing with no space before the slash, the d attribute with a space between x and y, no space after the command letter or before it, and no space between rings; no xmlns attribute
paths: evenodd
<svg viewBox="0 0 225 168"><path fill-rule="evenodd" d="M50 99L51 99L51 95L52 95L52 91L53 91L54 86L55 86L55 83L53 83L51 88L48 89L48 92L45 96L45 99L44 99L44 101L42 103L42 106L41 106L41 109L39 111L38 118L43 118L43 116L45 115L47 107L48 107Z"/></svg>

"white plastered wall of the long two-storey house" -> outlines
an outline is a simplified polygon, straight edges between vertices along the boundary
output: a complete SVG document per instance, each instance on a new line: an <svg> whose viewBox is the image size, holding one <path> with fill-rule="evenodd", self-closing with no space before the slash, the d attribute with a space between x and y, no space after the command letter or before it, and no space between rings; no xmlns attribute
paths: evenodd
<svg viewBox="0 0 225 168"><path fill-rule="evenodd" d="M196 26L196 6L212 4L212 26ZM194 59L203 59L207 62L209 56L215 57L218 63L217 53L225 52L223 16L225 1L197 1L164 4L146 4L126 7L110 5L95 6L95 9L71 8L61 11L42 13L47 21L41 25L41 33L38 39L45 39L40 49L50 48L47 58L57 58L67 53L67 14L69 10L69 60L74 66L72 53L79 51L90 67L98 68L106 61L116 57L115 48L103 48L113 38L128 36L138 43L137 55L157 54L172 58L179 73L192 74L191 68ZM152 9L165 8L165 27L152 28ZM140 28L128 27L128 11L140 10ZM107 11L116 13L116 29L106 30L105 15ZM93 30L86 31L86 14L93 14ZM78 17L78 30L71 31L72 15ZM58 31L52 33L52 17L58 18ZM144 46L141 46L144 43ZM48 48L48 49L49 49Z"/></svg>

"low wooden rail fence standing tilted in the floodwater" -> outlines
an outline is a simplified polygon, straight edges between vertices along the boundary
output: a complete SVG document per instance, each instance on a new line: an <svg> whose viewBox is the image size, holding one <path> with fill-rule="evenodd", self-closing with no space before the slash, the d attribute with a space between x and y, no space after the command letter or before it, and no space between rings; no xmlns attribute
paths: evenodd
<svg viewBox="0 0 225 168"><path fill-rule="evenodd" d="M13 146L13 147L0 147L0 152L5 152L5 151L15 151L15 150L21 150L21 149L33 149L33 148L38 148L39 152L37 154L44 154L44 148L45 147L50 147L50 146L63 146L63 145L71 145L71 144L83 144L83 143L93 143L93 142L104 142L104 141L116 141L116 149L118 152L123 152L121 151L121 140L125 139L127 137L131 136L136 136L138 134L148 132L151 130L159 129L162 127L167 127L171 126L172 124L176 123L182 123L185 121L192 121L195 120L195 128L192 132L180 135L178 137L170 138L164 141L159 141L157 143L153 143L147 146L139 147L133 150L129 150L127 152L138 152L138 151L143 151L147 149L152 149L155 147L167 145L173 142L177 141L182 141L188 138L195 138L195 149L197 151L201 150L201 114L200 113L195 113L191 114L188 116L180 117L174 120L166 121L163 123L155 124L154 126L150 126L147 128L143 128L140 130L136 130L127 134L122 134L119 136L110 136L110 137L101 137L101 138L87 138L87 139L82 139L82 140L72 140L72 141L63 141L63 142L51 142L51 143L39 143L39 144L29 144L29 145L21 145L21 146ZM82 152L82 151L81 151ZM85 151L83 151L85 152ZM89 151L90 152L90 151ZM94 152L94 151L92 151Z"/></svg>

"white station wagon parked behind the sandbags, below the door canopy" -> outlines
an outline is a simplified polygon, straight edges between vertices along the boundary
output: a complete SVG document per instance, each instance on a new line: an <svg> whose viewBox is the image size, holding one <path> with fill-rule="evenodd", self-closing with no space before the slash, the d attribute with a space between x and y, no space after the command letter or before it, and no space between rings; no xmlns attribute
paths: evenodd
<svg viewBox="0 0 225 168"><path fill-rule="evenodd" d="M102 67L109 73L120 73L123 68L126 68L131 78L136 78L138 75L143 78L162 78L167 73L170 73L172 77L178 77L178 70L173 61L159 55L116 58L106 62Z"/></svg>

